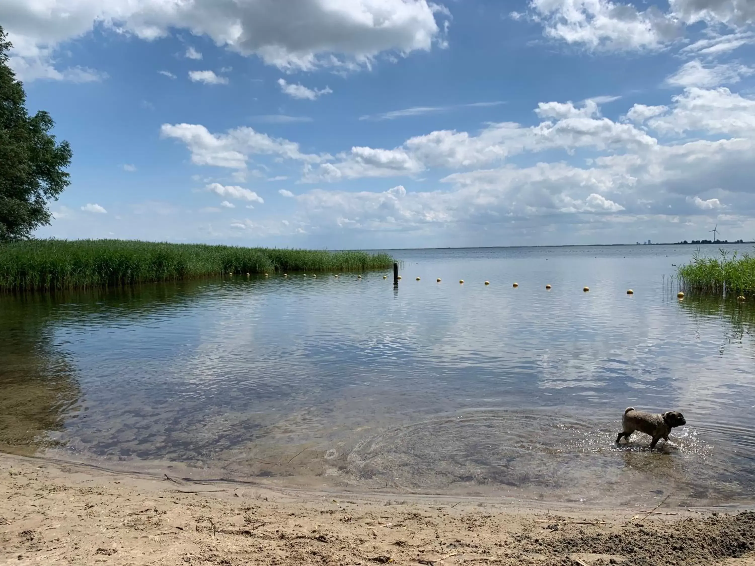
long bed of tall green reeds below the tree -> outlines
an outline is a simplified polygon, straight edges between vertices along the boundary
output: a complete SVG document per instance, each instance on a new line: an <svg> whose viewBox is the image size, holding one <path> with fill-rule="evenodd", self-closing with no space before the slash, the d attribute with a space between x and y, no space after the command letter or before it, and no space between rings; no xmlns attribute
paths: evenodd
<svg viewBox="0 0 755 566"><path fill-rule="evenodd" d="M363 251L311 251L131 240L30 240L0 245L0 291L136 285L230 273L387 269L393 258Z"/></svg>

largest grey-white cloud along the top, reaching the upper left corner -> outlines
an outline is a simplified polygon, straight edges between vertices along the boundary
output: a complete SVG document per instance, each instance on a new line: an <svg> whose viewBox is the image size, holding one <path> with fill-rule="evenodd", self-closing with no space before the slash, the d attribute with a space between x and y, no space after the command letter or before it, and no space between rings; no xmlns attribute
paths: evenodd
<svg viewBox="0 0 755 566"><path fill-rule="evenodd" d="M433 43L445 41L441 20L448 21L448 11L427 0L0 2L0 21L16 48L12 64L26 73L23 80L82 79L82 72L75 69L57 69L54 54L60 45L81 38L95 25L145 41L185 29L280 69L348 70L371 65L381 52L405 56L429 51Z"/></svg>

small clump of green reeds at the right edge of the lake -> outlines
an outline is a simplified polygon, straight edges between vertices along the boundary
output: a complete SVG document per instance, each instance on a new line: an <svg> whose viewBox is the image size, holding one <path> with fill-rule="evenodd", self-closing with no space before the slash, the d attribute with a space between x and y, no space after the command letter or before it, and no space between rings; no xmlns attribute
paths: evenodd
<svg viewBox="0 0 755 566"><path fill-rule="evenodd" d="M685 291L755 294L755 257L736 252L729 256L724 250L718 257L701 257L695 252L690 263L680 266L679 278Z"/></svg>

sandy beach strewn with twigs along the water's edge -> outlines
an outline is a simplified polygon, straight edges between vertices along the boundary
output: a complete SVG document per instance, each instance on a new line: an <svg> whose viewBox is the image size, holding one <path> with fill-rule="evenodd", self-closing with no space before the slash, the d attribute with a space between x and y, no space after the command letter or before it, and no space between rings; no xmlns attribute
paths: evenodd
<svg viewBox="0 0 755 566"><path fill-rule="evenodd" d="M523 505L0 454L0 564L755 564L753 512Z"/></svg>

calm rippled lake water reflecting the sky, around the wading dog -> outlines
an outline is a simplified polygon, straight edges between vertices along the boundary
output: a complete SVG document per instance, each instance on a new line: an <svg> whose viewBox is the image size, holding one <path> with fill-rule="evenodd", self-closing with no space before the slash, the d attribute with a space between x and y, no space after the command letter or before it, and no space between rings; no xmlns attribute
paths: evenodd
<svg viewBox="0 0 755 566"><path fill-rule="evenodd" d="M398 288L319 273L0 297L0 450L353 491L751 503L753 301L677 300L668 275L693 251L408 250ZM688 426L617 446L630 405Z"/></svg>

